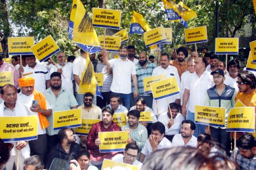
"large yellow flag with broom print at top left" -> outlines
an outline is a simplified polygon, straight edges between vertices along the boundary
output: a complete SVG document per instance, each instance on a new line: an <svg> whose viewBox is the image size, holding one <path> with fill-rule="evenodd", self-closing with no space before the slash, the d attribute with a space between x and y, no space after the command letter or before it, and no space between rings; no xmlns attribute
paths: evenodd
<svg viewBox="0 0 256 170"><path fill-rule="evenodd" d="M73 22L72 39L74 42L88 46L100 45L94 26L92 26L92 21L80 0L73 0L70 20ZM71 32L71 22L69 22L69 33Z"/></svg>

